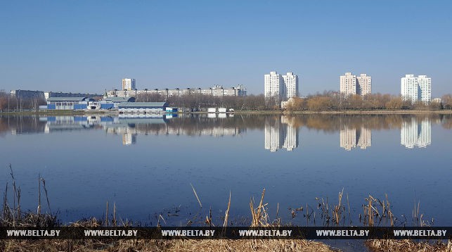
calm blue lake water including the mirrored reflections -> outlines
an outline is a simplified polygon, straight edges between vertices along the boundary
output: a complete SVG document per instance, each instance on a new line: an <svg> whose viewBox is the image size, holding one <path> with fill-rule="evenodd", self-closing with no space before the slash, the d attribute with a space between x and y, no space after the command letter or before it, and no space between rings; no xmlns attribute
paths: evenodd
<svg viewBox="0 0 452 252"><path fill-rule="evenodd" d="M337 204L344 189L345 225L361 225L369 194L387 194L407 225L420 203L422 220L447 226L451 129L451 115L3 117L0 192L8 182L12 204L11 163L22 209L36 211L40 175L50 210L66 223L102 218L108 201L110 213L115 203L120 218L141 225L156 225L159 214L167 225L202 222L209 209L222 224L231 191L230 218L239 225L250 217L250 197L259 203L265 188L271 220L279 206L283 222L306 225L306 203L319 213L316 197ZM300 207L292 218L289 208Z"/></svg>

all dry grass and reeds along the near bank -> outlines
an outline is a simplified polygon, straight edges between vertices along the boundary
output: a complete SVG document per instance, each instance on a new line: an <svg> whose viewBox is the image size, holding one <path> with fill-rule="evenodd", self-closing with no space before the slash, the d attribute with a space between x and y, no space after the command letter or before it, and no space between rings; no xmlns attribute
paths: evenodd
<svg viewBox="0 0 452 252"><path fill-rule="evenodd" d="M14 199L13 207L8 205L7 201L7 189L4 194L4 206L3 213L0 218L1 226L8 227L58 227L60 223L57 222L56 216L51 214L40 213L40 199L38 213L22 213L20 211L20 188L15 187L14 176L11 170L11 177L13 178L13 193ZM44 192L46 194L47 204L50 209L49 198L47 197L47 191L45 187L45 180L39 177L39 188L41 188L41 182L44 186ZM202 208L201 201L198 194L195 191L193 185L191 186L193 193L195 194L200 207ZM342 203L342 196L344 190L340 191L338 195L338 203L330 205L328 198L326 201L316 198L318 201L318 209L321 210L321 218L324 225L338 225L345 220L344 213L346 208ZM252 215L251 227L279 227L281 224L280 218L278 218L278 210L276 210L276 220L271 220L268 212L268 204L264 203L265 189L261 193L261 199L256 204L254 199L250 200L250 210ZM363 205L363 225L374 226L380 225L381 222L386 222L391 226L394 226L396 218L392 214L390 209L389 200L380 201L380 199L368 196L366 199L366 205ZM348 195L347 206L349 208ZM231 208L231 192L229 193L229 200L227 209L225 212L225 218L223 227L228 225L229 210ZM429 225L429 222L422 220L422 214L420 214L420 204L418 203L413 210L413 220L420 226ZM87 220L80 220L78 222L70 223L71 227L106 227L112 226L131 226L131 223L127 220L117 220L116 218L116 205L113 203L112 220L109 220L108 215L108 202L105 213L105 220L96 220L96 218L90 218ZM296 208L295 212L292 210L292 216L296 215L297 211L302 211L303 208ZM315 212L309 213L309 206L306 204L306 221L311 218ZM350 210L348 210L350 215ZM361 216L361 215L360 215ZM157 222L157 226L160 226ZM349 217L350 218L350 217ZM162 218L163 222L164 219ZM330 222L331 220L331 222ZM118 223L117 223L118 222ZM406 223L403 222L403 223ZM205 225L213 225L212 223L212 210L209 210L209 216L206 216ZM432 244L427 241L414 242L412 240L370 240L366 241L366 246L372 251L446 251L452 252L452 242L448 241L448 244L437 243ZM325 245L317 241L307 240L290 240L290 239L130 239L130 240L0 240L0 251L335 251L328 245Z"/></svg>

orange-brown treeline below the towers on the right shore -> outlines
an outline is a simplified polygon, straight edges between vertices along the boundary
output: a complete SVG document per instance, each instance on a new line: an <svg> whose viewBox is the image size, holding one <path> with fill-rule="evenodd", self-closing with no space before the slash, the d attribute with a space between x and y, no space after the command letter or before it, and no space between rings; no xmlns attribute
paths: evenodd
<svg viewBox="0 0 452 252"><path fill-rule="evenodd" d="M310 95L306 98L292 98L288 103L288 111L342 111L342 110L440 110L452 108L452 95L447 94L441 98L441 103L432 101L425 104L422 101L411 103L403 101L401 96L391 94L369 94L366 96L343 96L337 92L323 92L323 94Z"/></svg>

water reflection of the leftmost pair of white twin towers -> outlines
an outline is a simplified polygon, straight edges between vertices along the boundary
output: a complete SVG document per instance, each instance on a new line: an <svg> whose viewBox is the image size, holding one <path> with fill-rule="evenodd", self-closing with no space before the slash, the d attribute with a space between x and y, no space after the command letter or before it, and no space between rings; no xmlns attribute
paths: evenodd
<svg viewBox="0 0 452 252"><path fill-rule="evenodd" d="M294 127L293 122L283 115L265 120L265 149L271 152L278 149L293 151L298 147L298 127Z"/></svg>

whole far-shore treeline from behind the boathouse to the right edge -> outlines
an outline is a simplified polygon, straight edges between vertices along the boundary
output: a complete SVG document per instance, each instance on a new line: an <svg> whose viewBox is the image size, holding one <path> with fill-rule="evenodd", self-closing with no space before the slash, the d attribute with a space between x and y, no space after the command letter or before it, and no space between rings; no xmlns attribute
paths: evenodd
<svg viewBox="0 0 452 252"><path fill-rule="evenodd" d="M169 106L203 110L210 107L234 108L243 111L278 110L280 106L275 97L265 98L263 94L249 96L210 96L207 94L186 94L177 96L160 96L159 94L138 94L136 101L167 101ZM401 96L391 94L370 94L366 96L343 96L337 92L323 92L305 98L292 98L286 107L288 111L342 111L342 110L440 110L452 109L452 94L441 98L441 103L428 105L419 101L403 101Z"/></svg>

